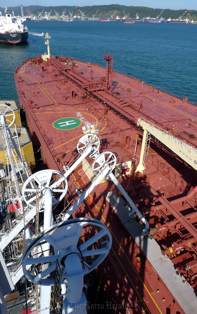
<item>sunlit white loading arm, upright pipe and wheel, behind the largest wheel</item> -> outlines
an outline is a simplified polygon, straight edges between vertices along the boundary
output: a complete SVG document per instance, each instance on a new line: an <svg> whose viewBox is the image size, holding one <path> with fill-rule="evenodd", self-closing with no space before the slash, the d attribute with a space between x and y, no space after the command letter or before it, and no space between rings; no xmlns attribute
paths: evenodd
<svg viewBox="0 0 197 314"><path fill-rule="evenodd" d="M53 179L54 177L54 179ZM31 187L33 183L34 188ZM38 186L38 195L36 195L36 185ZM38 171L26 180L23 185L22 193L25 202L36 207L36 198L39 198L39 211L44 211L43 230L47 230L54 225L53 205L60 202L66 195L68 183L65 176L56 170ZM45 257L50 255L50 243L41 246ZM50 312L51 287L42 287L40 289L40 306L43 314Z"/></svg>

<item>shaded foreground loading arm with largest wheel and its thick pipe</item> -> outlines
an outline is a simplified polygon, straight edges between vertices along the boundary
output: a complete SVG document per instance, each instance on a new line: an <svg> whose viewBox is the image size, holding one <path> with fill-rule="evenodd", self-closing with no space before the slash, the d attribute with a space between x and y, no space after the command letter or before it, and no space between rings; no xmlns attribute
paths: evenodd
<svg viewBox="0 0 197 314"><path fill-rule="evenodd" d="M53 247L55 254L35 256L35 247L42 246L43 241ZM60 222L40 233L28 245L22 259L24 275L41 287L52 286L58 265L62 273L59 278L63 295L62 313L85 314L87 300L82 291L83 276L98 267L109 253L111 244L111 234L99 220L77 218Z"/></svg>

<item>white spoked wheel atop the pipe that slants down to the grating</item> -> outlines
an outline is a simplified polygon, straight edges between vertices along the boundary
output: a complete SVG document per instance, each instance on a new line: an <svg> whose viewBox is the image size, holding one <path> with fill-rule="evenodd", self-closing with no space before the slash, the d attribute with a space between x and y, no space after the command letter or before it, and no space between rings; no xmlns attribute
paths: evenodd
<svg viewBox="0 0 197 314"><path fill-rule="evenodd" d="M101 153L93 162L92 170L93 173L100 174L107 166L110 166L112 172L116 165L116 156L111 152ZM109 172L109 173L110 173Z"/></svg>

